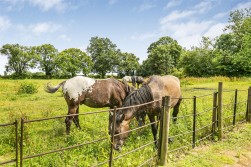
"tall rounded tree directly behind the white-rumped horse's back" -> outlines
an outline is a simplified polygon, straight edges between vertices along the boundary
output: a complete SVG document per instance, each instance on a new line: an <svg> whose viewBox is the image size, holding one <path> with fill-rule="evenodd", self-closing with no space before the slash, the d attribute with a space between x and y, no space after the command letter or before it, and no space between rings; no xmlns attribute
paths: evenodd
<svg viewBox="0 0 251 167"><path fill-rule="evenodd" d="M93 72L105 77L107 72L115 71L118 64L119 51L109 38L92 37L87 47L87 53L93 62Z"/></svg>

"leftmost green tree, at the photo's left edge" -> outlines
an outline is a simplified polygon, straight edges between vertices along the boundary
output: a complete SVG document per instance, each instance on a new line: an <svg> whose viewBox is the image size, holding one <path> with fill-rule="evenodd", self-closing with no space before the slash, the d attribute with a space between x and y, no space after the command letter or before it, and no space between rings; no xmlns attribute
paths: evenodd
<svg viewBox="0 0 251 167"><path fill-rule="evenodd" d="M23 76L29 68L34 68L36 65L36 55L32 52L31 47L5 44L0 52L8 57L8 64L5 66L6 72L14 72L18 76Z"/></svg>

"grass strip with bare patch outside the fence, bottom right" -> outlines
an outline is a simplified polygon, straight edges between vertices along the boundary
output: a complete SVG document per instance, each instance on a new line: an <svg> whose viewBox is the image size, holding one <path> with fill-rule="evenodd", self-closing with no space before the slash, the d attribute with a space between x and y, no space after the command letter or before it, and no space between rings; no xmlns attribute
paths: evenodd
<svg viewBox="0 0 251 167"><path fill-rule="evenodd" d="M169 166L208 166L231 165L248 166L251 163L251 124L237 125L222 142L203 143L200 147L169 159Z"/></svg>

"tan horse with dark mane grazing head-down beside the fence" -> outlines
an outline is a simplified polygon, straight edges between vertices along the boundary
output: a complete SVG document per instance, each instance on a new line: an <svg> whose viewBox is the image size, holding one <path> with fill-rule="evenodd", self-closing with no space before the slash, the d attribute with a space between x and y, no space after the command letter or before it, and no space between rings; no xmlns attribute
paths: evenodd
<svg viewBox="0 0 251 167"><path fill-rule="evenodd" d="M161 99L164 96L171 97L171 107L173 110L174 121L177 120L179 113L179 105L181 102L180 81L177 77L167 76L151 76L148 81L139 89L132 92L124 100L122 107L144 104L150 101L157 101L148 105L138 106L134 108L119 109L116 112L115 134L113 148L120 150L125 139L128 137L129 124L138 112L145 111L150 122L155 122L155 116L159 116L161 112ZM156 123L151 125L154 141L157 140L158 126ZM155 142L157 146L157 142Z"/></svg>

